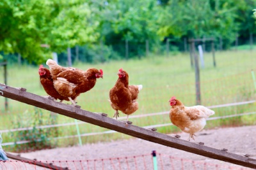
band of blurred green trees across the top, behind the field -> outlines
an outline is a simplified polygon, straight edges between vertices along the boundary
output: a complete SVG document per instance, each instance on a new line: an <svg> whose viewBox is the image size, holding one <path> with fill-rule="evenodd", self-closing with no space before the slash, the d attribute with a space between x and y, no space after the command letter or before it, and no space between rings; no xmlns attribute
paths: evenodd
<svg viewBox="0 0 256 170"><path fill-rule="evenodd" d="M39 64L78 45L85 62L106 62L125 57L125 40L129 57L141 58L147 40L157 52L166 38L183 49L183 38L204 36L221 37L227 49L236 34L247 43L256 33L253 6L255 0L3 0L0 52Z"/></svg>

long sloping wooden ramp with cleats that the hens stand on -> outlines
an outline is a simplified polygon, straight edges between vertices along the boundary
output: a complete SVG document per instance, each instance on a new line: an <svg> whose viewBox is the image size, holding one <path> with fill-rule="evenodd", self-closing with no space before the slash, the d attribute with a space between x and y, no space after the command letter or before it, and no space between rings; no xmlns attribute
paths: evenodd
<svg viewBox="0 0 256 170"><path fill-rule="evenodd" d="M80 108L68 104L52 101L46 97L37 96L36 94L26 92L24 89L19 90L1 83L0 87L0 91L2 91L0 95L20 101L22 103L30 104L38 108L53 111L54 113L76 118L77 120L81 120L83 122L99 125L100 127L111 129L113 131L121 132L147 141L152 141L164 146L177 148L179 150L184 150L186 152L195 153L212 159L223 160L225 162L230 162L240 166L256 168L256 159L250 159L242 155L229 153L216 148L211 148L209 146L198 145L196 143L191 143L180 138L161 134L159 132L138 127L136 125L126 125L125 122L115 120L114 118L109 118L99 113L81 110Z"/></svg>

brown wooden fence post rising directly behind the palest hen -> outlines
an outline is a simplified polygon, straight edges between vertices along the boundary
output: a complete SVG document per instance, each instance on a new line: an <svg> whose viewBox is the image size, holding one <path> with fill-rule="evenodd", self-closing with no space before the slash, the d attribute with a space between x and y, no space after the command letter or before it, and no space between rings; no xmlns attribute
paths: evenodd
<svg viewBox="0 0 256 170"><path fill-rule="evenodd" d="M199 71L199 62L198 55L195 53L195 42L192 41L192 50L195 59L195 79L196 79L196 105L201 104L201 94L200 94L200 71Z"/></svg>

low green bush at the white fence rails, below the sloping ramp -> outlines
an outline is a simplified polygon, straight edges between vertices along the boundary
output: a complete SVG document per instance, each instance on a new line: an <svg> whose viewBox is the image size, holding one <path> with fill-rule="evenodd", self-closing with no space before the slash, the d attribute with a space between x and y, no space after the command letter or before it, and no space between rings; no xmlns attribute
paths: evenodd
<svg viewBox="0 0 256 170"><path fill-rule="evenodd" d="M27 131L12 132L12 138L16 141L31 141L26 145L14 145L15 152L31 152L33 150L42 150L45 148L52 148L51 141L48 140L52 135L58 135L56 129L37 129L40 125L54 124L56 122L55 115L45 117L42 110L35 108L34 115L26 110L23 114L17 115L16 119L12 122L13 129L22 127L32 127L33 129ZM57 134L56 134L57 133Z"/></svg>

